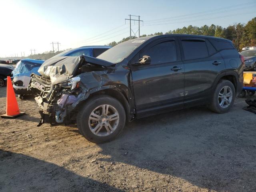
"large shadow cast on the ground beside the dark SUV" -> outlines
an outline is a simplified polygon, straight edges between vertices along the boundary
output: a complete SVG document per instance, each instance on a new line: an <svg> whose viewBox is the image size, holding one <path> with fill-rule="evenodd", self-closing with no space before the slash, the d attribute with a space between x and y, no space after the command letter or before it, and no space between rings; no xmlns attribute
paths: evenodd
<svg viewBox="0 0 256 192"><path fill-rule="evenodd" d="M209 190L256 191L256 121L244 126L243 116L232 118L237 112L245 111L213 114L193 108L136 120L119 138L100 144L111 160L99 160L175 176Z"/></svg>

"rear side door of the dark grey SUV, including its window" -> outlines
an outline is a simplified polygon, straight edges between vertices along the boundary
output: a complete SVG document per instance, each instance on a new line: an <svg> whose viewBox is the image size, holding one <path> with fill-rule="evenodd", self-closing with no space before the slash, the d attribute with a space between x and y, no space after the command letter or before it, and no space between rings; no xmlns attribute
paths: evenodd
<svg viewBox="0 0 256 192"><path fill-rule="evenodd" d="M225 71L220 53L204 38L180 38L184 63L184 105L208 103L214 91L214 81Z"/></svg>

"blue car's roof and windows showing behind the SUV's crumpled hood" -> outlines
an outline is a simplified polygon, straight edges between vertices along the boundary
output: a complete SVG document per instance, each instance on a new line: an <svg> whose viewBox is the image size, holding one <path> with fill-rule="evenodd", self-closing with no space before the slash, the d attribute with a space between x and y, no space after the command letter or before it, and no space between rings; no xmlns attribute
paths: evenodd
<svg viewBox="0 0 256 192"><path fill-rule="evenodd" d="M74 48L70 50L66 50L64 52L61 52L60 54L54 56L54 57L60 57L60 56L91 56L91 57L97 57L106 50L110 49L111 46L83 46L79 48Z"/></svg>

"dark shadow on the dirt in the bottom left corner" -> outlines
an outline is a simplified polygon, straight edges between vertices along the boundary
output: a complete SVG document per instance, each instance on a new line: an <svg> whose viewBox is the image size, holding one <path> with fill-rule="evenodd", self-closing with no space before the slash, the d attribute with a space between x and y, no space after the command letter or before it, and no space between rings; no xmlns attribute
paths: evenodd
<svg viewBox="0 0 256 192"><path fill-rule="evenodd" d="M122 191L56 164L0 150L0 191Z"/></svg>

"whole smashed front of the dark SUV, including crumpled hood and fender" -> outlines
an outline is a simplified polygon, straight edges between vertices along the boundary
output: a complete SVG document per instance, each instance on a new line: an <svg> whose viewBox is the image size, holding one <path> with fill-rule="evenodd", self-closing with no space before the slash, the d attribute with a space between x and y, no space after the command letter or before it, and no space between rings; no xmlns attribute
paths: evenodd
<svg viewBox="0 0 256 192"><path fill-rule="evenodd" d="M44 62L38 70L42 76L32 74L28 88L36 95L35 100L42 109L38 126L44 122L72 123L76 105L93 89L100 89L102 82L109 81L106 74L114 70L112 65L88 56L57 57Z"/></svg>

